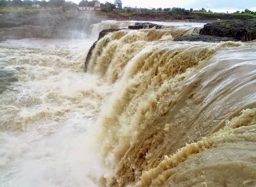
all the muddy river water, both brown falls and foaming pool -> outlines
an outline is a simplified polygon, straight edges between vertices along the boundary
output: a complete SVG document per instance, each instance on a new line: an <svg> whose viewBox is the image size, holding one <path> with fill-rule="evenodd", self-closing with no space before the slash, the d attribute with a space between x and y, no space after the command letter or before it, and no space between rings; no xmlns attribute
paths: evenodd
<svg viewBox="0 0 256 187"><path fill-rule="evenodd" d="M256 185L256 41L121 30L84 72L132 24L0 43L0 186Z"/></svg>

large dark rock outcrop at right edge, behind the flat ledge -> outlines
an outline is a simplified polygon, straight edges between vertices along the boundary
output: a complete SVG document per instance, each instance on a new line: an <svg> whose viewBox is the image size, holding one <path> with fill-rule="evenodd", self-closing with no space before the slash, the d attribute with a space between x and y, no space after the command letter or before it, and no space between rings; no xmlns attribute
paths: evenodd
<svg viewBox="0 0 256 187"><path fill-rule="evenodd" d="M256 18L205 24L200 34L232 37L242 41L256 39Z"/></svg>

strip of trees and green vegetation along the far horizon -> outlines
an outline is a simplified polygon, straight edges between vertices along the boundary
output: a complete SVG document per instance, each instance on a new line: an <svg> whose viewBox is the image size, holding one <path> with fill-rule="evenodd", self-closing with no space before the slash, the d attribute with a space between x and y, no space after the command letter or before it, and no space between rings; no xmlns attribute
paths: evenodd
<svg viewBox="0 0 256 187"><path fill-rule="evenodd" d="M82 0L79 3L79 6L94 6L97 0L87 1ZM159 19L247 19L250 17L256 17L256 12L248 10L246 8L244 11L236 11L234 13L213 13L211 10L208 12L205 8L200 10L185 10L185 8L172 7L172 8L133 8L133 7L122 7L122 0L114 0L114 3L105 2L100 3L101 5L101 14L109 17L152 17ZM39 7L34 7L39 6ZM38 0L0 0L0 13L10 13L10 12L20 12L20 13L38 13L39 11L53 11L53 9L61 9L63 12L66 10L72 10L77 8L77 4L72 1L65 0L49 0L49 1L38 1Z"/></svg>

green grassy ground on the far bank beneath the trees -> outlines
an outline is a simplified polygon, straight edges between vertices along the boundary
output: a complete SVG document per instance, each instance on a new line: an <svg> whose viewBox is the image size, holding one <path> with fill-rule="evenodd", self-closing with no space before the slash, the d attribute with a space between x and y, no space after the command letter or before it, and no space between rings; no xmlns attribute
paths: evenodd
<svg viewBox="0 0 256 187"><path fill-rule="evenodd" d="M37 8L37 7L0 7L0 14L4 13L21 13L21 14L38 14L43 11L49 12L61 12L60 9L54 8ZM74 12L74 10L67 10L68 12ZM80 14L83 14L83 11L79 11ZM95 12L97 16L102 19L120 19L124 17L125 19L132 18L137 20L143 19L152 19L152 20L172 20L172 19L194 19L194 20L232 20L232 19L250 19L256 17L253 14L225 14L225 13L212 13L212 12L189 12L189 14L179 14L172 13L167 11L145 11L145 12L131 12L126 11L112 11L112 12Z"/></svg>

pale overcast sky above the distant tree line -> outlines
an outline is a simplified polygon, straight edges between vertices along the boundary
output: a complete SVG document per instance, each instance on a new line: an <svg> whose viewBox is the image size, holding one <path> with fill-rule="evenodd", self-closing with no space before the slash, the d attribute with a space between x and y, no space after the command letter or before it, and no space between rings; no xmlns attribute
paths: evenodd
<svg viewBox="0 0 256 187"><path fill-rule="evenodd" d="M79 3L81 0L73 0ZM100 0L101 3L105 1L114 2L114 0ZM168 8L168 7L181 7L201 9L208 8L213 12L236 12L243 11L249 8L251 11L256 11L256 0L122 0L123 7L131 6L138 8Z"/></svg>

